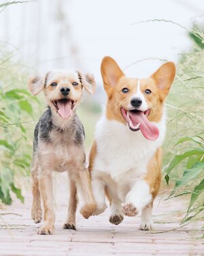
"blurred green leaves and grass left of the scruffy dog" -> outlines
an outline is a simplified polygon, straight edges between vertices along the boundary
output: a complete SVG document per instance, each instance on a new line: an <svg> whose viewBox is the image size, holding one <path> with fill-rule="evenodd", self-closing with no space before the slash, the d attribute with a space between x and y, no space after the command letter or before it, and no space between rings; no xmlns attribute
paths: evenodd
<svg viewBox="0 0 204 256"><path fill-rule="evenodd" d="M29 175L32 141L29 136L37 100L27 90L23 66L0 53L0 199L12 203L12 193L22 202L24 177ZM12 191L12 192L11 192Z"/></svg>

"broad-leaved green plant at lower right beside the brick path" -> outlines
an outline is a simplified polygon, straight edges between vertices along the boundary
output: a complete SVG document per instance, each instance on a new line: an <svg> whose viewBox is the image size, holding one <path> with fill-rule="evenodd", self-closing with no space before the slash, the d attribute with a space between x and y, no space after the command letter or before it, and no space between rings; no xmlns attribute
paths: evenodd
<svg viewBox="0 0 204 256"><path fill-rule="evenodd" d="M200 136L183 137L176 145L186 141L191 141L196 146L190 147L189 150L182 154L173 156L169 166L165 169L165 180L169 184L169 173L177 166L180 166L180 162L186 160L182 177L176 180L171 195L169 195L169 198L172 198L190 194L190 203L182 223L190 221L192 218L197 218L197 215L204 210L204 203L197 201L204 192L204 140ZM203 216L201 218L204 219Z"/></svg>

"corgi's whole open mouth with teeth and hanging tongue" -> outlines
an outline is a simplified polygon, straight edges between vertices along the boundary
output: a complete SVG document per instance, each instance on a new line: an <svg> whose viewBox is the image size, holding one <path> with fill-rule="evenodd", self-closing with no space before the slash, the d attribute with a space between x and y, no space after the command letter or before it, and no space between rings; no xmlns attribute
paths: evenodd
<svg viewBox="0 0 204 256"><path fill-rule="evenodd" d="M134 132L141 130L143 137L146 137L146 139L149 139L150 141L155 141L158 138L158 128L148 120L150 109L146 111L139 111L137 109L126 111L126 109L121 108L121 113L130 130L133 130Z"/></svg>

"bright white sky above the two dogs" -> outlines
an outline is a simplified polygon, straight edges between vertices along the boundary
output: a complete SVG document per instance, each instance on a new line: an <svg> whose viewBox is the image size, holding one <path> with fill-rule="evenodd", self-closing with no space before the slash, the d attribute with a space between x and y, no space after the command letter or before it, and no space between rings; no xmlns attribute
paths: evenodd
<svg viewBox="0 0 204 256"><path fill-rule="evenodd" d="M65 20L58 21L60 4ZM203 0L39 0L1 12L0 40L18 47L18 57L41 72L81 68L94 73L101 83L100 64L105 55L114 57L124 69L149 57L177 61L178 54L190 48L187 31L177 25L132 23L165 19L190 29L194 17L202 14ZM197 18L198 23L202 20L203 16ZM71 47L78 50L76 57ZM125 72L144 77L160 64L155 59L142 61Z"/></svg>

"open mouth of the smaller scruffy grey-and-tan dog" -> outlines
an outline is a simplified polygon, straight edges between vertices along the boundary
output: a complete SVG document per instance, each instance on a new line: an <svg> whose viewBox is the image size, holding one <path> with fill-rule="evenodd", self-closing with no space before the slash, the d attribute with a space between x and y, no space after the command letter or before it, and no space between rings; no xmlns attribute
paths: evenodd
<svg viewBox="0 0 204 256"><path fill-rule="evenodd" d="M75 106L75 103L75 101L69 98L62 98L61 100L52 100L52 104L54 105L56 111L63 118L70 117Z"/></svg>

